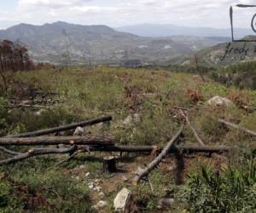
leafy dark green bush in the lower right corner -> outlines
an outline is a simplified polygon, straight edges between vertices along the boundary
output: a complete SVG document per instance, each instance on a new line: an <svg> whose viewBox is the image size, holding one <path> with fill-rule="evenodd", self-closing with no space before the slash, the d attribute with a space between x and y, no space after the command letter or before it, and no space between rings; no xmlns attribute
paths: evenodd
<svg viewBox="0 0 256 213"><path fill-rule="evenodd" d="M211 165L189 175L183 199L190 212L255 212L255 158L247 167L229 168L218 174Z"/></svg>

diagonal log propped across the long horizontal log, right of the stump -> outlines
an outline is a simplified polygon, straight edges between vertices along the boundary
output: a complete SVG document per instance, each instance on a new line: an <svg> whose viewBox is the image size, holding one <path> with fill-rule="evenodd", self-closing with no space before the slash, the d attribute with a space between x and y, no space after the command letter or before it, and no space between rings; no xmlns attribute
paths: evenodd
<svg viewBox="0 0 256 213"><path fill-rule="evenodd" d="M154 170L154 168L160 164L163 158L166 157L166 154L169 153L169 151L172 149L174 146L175 141L178 140L179 136L183 132L183 126L181 127L180 130L177 131L177 134L172 137L172 140L169 141L166 145L166 147L163 149L163 151L160 153L160 155L157 158L154 158L154 160L148 164L148 166L144 170L140 170L137 172L137 176L133 179L132 184L134 186L137 186L137 183L143 179L144 176L148 176L151 170Z"/></svg>

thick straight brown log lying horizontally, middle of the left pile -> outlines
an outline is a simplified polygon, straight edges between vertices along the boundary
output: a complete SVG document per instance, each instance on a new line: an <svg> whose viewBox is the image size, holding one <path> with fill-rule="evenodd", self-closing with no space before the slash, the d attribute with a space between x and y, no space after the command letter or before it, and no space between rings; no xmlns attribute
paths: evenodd
<svg viewBox="0 0 256 213"><path fill-rule="evenodd" d="M47 136L47 137L24 137L0 138L0 146L41 146L41 145L113 145L113 137L108 136Z"/></svg>

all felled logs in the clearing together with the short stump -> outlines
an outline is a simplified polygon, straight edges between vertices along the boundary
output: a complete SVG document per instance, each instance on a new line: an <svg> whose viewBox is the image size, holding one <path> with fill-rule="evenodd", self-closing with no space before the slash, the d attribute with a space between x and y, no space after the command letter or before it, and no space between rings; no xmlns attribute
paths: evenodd
<svg viewBox="0 0 256 213"><path fill-rule="evenodd" d="M77 127L84 127L88 125L94 125L99 123L110 122L112 117L96 118L80 123L67 124L47 130L38 130L34 132L27 132L20 135L11 135L0 138L0 152L10 155L10 158L0 160L0 165L14 164L26 158L32 158L39 155L48 154L69 154L69 157L64 159L58 164L62 164L66 160L73 158L78 153L92 153L92 152L106 152L106 153L155 153L156 158L148 164L148 166L137 172L137 176L133 179L133 184L137 186L137 183L148 176L151 170L154 170L158 164L169 153L226 153L230 151L229 147L207 147L201 140L200 135L196 132L195 128L189 122L189 118L183 112L182 108L177 108L181 117L183 118L183 124L177 131L171 141L166 143L166 147L161 148L157 146L119 146L116 144L115 139L112 136L99 136L99 135L83 135L83 136L52 136L49 134L56 134L62 131L75 130ZM243 130L247 134L255 136L256 133L252 130L240 128L236 124L225 122L222 119L218 120L222 124L226 124L230 127ZM179 146L177 141L181 140L184 125L188 125L195 135L196 141L199 146ZM48 136L45 136L48 135ZM59 146L62 145L62 146ZM15 152L10 150L13 147L28 146L30 148L26 153ZM38 147L39 146L39 147ZM50 146L50 147L45 147ZM57 147L56 147L57 146ZM36 148L35 148L36 147ZM115 158L111 156L103 159L104 170L110 172L115 171Z"/></svg>

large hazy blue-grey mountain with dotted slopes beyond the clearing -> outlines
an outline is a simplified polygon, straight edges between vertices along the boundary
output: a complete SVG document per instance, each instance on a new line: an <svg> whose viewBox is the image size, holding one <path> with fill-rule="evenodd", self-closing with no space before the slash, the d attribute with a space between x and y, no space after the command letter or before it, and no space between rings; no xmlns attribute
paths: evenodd
<svg viewBox="0 0 256 213"><path fill-rule="evenodd" d="M139 59L143 62L180 61L199 49L219 43L219 37L138 37L117 32L108 26L81 26L55 22L44 26L20 24L0 31L0 39L26 43L33 60L64 62L67 52L63 30L67 33L71 64L119 62Z"/></svg>

